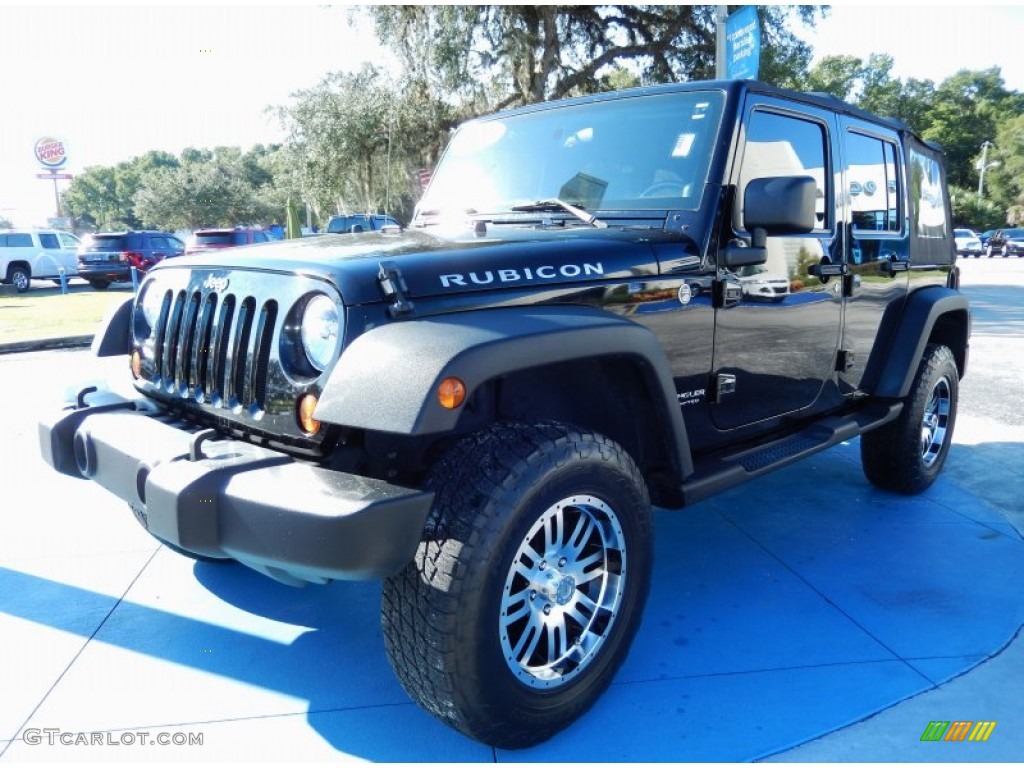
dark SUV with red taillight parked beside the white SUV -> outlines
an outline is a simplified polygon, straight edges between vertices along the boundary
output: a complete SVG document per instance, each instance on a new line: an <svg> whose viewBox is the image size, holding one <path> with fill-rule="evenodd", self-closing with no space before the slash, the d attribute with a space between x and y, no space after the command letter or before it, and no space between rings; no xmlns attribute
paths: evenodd
<svg viewBox="0 0 1024 768"><path fill-rule="evenodd" d="M96 232L78 250L78 274L97 290L131 280L131 269L145 274L154 264L184 253L185 245L170 232L139 230Z"/></svg>

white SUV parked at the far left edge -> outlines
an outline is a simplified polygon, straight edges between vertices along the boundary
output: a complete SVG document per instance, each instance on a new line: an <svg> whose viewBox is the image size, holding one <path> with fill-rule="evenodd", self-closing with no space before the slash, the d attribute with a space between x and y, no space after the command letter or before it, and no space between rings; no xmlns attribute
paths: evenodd
<svg viewBox="0 0 1024 768"><path fill-rule="evenodd" d="M78 246L78 238L57 229L0 229L0 283L25 293L33 280L73 278Z"/></svg>

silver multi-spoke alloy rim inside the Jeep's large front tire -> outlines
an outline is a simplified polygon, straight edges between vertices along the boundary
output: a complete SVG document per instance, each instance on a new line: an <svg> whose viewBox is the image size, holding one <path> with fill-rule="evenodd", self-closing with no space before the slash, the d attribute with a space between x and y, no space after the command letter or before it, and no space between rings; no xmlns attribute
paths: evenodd
<svg viewBox="0 0 1024 768"><path fill-rule="evenodd" d="M623 526L601 500L569 497L541 515L512 559L499 614L502 653L520 682L556 688L597 658L626 567Z"/></svg>

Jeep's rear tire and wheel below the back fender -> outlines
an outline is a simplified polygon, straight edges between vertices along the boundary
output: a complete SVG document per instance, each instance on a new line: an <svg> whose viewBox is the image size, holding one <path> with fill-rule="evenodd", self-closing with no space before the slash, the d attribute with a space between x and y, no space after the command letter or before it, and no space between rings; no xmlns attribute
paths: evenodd
<svg viewBox="0 0 1024 768"><path fill-rule="evenodd" d="M929 344L899 418L860 438L860 461L868 480L908 495L935 481L952 441L958 385L952 352Z"/></svg>

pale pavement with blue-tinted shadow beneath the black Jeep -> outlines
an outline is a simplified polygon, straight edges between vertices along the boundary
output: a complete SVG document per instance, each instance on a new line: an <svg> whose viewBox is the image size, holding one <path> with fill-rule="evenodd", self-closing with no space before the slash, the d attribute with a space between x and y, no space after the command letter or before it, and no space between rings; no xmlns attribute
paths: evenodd
<svg viewBox="0 0 1024 768"><path fill-rule="evenodd" d="M853 441L659 512L626 666L575 725L514 753L410 701L379 585L194 563L49 470L38 411L73 377L123 378L121 361L0 355L0 761L1019 761L1024 259L962 267L974 336L939 481L877 490ZM933 721L996 725L922 741Z"/></svg>

